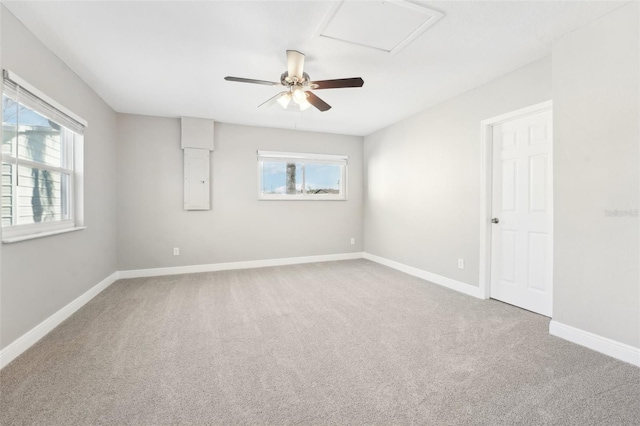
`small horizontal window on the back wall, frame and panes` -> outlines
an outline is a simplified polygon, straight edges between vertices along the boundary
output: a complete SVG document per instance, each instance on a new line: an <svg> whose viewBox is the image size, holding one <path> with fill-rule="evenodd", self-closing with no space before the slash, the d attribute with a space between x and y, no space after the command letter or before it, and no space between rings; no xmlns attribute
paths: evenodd
<svg viewBox="0 0 640 426"><path fill-rule="evenodd" d="M260 200L346 200L346 155L258 151Z"/></svg>

